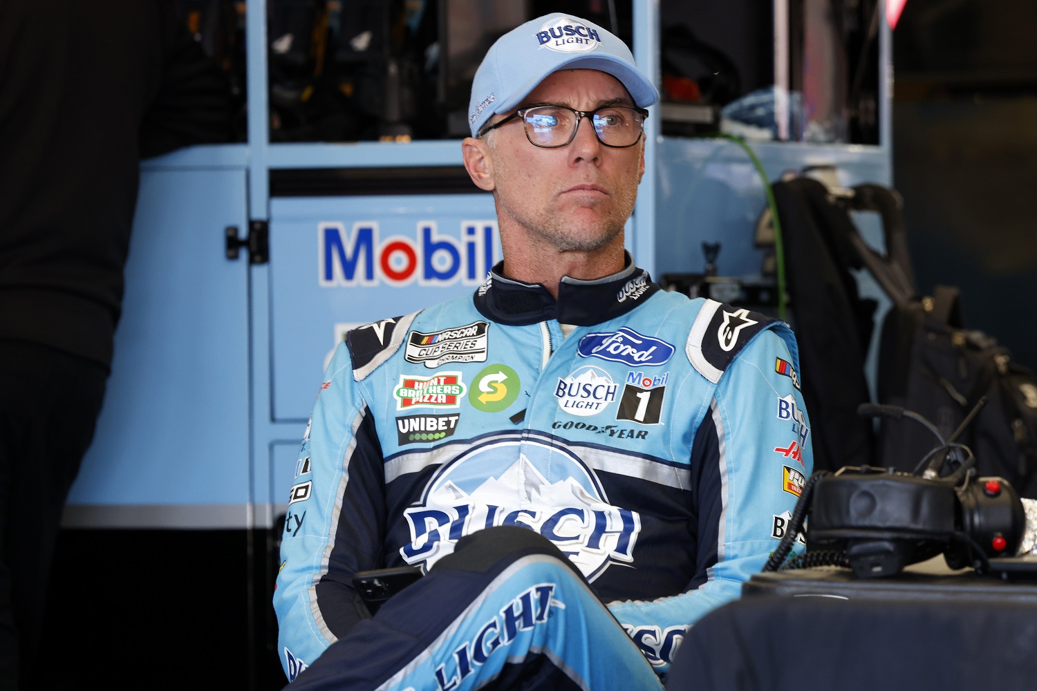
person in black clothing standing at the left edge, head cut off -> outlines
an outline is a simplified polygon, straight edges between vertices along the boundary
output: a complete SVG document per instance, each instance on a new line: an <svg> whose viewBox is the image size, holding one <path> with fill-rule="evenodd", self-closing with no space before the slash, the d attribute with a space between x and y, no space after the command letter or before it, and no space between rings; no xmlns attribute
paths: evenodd
<svg viewBox="0 0 1037 691"><path fill-rule="evenodd" d="M0 688L31 686L112 361L141 157L227 141L171 0L0 3Z"/></svg>

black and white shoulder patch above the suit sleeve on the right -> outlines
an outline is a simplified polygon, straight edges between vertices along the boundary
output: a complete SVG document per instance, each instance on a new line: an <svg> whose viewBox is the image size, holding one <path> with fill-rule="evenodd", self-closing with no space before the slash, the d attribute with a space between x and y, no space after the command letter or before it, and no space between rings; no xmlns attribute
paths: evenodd
<svg viewBox="0 0 1037 691"><path fill-rule="evenodd" d="M784 322L759 312L707 299L695 317L684 351L699 374L718 383L738 352L757 334L776 324L784 325Z"/></svg>

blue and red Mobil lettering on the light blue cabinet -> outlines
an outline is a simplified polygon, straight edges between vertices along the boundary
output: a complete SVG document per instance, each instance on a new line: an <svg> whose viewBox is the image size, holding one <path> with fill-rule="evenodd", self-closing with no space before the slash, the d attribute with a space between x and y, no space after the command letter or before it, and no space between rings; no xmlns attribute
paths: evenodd
<svg viewBox="0 0 1037 691"><path fill-rule="evenodd" d="M497 222L461 221L454 234L419 221L413 235L382 237L379 223L317 225L319 283L335 286L478 285L497 256Z"/></svg>

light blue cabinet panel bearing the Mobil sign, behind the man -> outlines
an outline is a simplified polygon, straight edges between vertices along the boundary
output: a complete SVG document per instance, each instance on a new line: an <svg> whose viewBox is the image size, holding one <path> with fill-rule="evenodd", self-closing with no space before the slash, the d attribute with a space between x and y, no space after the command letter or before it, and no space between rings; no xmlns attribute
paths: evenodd
<svg viewBox="0 0 1037 691"><path fill-rule="evenodd" d="M274 419L309 416L347 327L470 293L499 258L487 194L274 199Z"/></svg>

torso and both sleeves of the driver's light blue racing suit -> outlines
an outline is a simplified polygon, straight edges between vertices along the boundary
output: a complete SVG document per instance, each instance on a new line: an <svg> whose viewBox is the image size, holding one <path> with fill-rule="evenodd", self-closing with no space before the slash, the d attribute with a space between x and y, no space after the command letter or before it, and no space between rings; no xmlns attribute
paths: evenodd
<svg viewBox="0 0 1037 691"><path fill-rule="evenodd" d="M274 597L289 680L366 616L356 572L427 572L494 525L557 545L665 679L810 477L797 369L784 322L664 291L628 256L563 278L557 300L498 265L472 296L349 332L290 488ZM428 688L485 681L448 658Z"/></svg>

